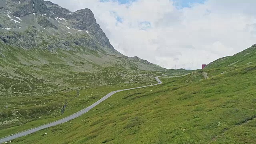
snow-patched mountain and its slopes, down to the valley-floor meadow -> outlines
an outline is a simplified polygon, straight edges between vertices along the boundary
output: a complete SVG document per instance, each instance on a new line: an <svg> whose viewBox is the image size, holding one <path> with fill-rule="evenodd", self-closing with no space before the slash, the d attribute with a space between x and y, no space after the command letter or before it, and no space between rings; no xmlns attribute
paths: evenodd
<svg viewBox="0 0 256 144"><path fill-rule="evenodd" d="M43 0L0 1L1 95L133 83L135 76L146 80L150 75L153 82L152 73L162 70L115 50L90 9L71 12ZM92 77L97 80L90 81Z"/></svg>

